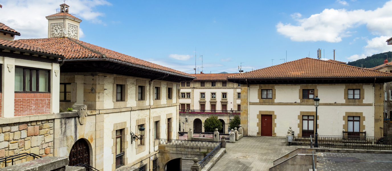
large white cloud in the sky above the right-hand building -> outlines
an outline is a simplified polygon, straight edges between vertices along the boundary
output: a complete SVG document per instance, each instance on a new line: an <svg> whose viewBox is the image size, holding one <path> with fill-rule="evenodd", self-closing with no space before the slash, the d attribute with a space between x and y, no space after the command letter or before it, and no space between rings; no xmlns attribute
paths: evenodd
<svg viewBox="0 0 392 171"><path fill-rule="evenodd" d="M373 35L392 35L392 1L383 7L365 11L363 9L347 11L346 9L324 9L309 18L298 19L297 25L276 25L278 33L289 37L292 41L326 41L341 42L343 37L350 36L348 29L366 24Z"/></svg>

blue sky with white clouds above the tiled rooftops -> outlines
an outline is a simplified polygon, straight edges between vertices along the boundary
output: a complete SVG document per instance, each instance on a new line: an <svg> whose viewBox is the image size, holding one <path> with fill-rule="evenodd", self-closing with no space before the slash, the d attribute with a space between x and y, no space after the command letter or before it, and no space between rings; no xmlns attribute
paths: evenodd
<svg viewBox="0 0 392 171"><path fill-rule="evenodd" d="M272 59L274 65L281 64L286 51L292 61L309 53L316 58L318 48L331 59L336 49L336 60L348 62L392 50L385 42L392 36L388 1L65 3L83 20L80 40L179 71L194 68L195 47L196 70L201 71L203 55L206 73L238 72L241 62L244 71L271 66ZM46 38L45 16L54 14L62 1L0 0L0 4L0 22L20 31L20 38ZM15 9L31 13L7 12Z"/></svg>

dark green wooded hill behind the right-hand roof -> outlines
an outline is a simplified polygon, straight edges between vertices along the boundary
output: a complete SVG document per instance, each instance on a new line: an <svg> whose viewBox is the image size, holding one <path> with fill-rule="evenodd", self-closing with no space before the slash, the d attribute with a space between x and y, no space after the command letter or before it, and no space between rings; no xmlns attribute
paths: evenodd
<svg viewBox="0 0 392 171"><path fill-rule="evenodd" d="M387 55L385 54L388 54L388 62L391 62L392 53L391 51L389 51L389 52L374 54L372 56L367 56L366 58L358 59L356 61L348 62L347 65L356 66L356 67L366 66L366 68L376 67L378 65L384 64L384 60L387 58Z"/></svg>

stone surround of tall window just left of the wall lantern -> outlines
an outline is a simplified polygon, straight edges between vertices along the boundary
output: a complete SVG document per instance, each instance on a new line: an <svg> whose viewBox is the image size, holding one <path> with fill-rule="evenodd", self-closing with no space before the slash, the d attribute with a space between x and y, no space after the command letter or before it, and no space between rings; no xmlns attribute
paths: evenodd
<svg viewBox="0 0 392 171"><path fill-rule="evenodd" d="M113 164L112 164L112 171L116 169L116 130L122 129L122 139L121 139L121 151L124 152L124 166L128 164L127 158L127 149L128 149L128 127L127 122L120 122L113 124L113 131L112 131L112 139L113 139L113 146L112 146L112 154L113 154Z"/></svg>

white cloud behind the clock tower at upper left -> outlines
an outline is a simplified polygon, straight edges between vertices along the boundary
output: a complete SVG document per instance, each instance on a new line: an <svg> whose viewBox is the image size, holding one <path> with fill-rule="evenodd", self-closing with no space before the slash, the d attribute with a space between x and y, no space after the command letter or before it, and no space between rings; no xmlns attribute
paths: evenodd
<svg viewBox="0 0 392 171"><path fill-rule="evenodd" d="M0 22L19 31L19 38L46 38L47 19L45 16L56 13L56 8L60 8L63 2L58 0L8 0L2 2L0 9ZM99 20L104 13L94 10L98 5L111 5L106 0L71 0L66 2L69 5L69 13L81 18L84 22L102 23Z"/></svg>

